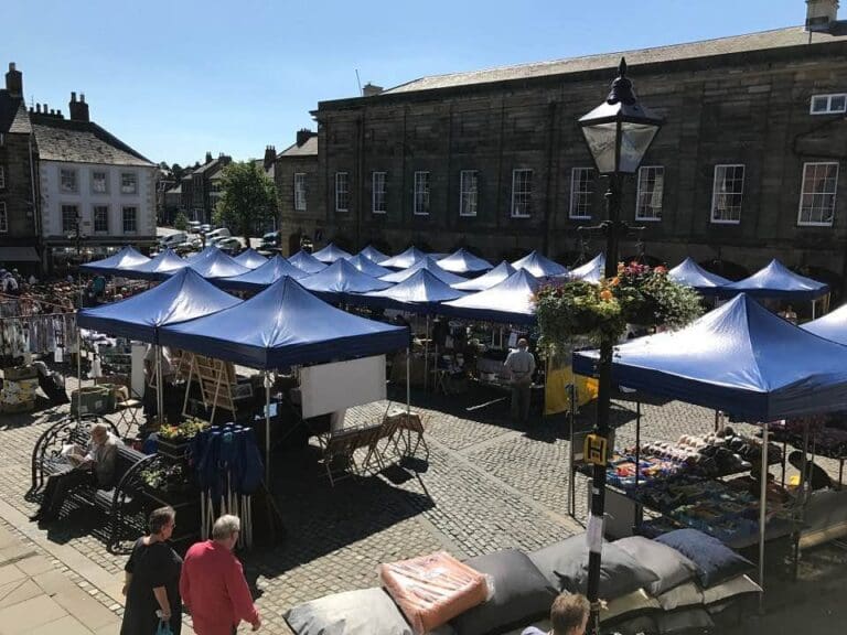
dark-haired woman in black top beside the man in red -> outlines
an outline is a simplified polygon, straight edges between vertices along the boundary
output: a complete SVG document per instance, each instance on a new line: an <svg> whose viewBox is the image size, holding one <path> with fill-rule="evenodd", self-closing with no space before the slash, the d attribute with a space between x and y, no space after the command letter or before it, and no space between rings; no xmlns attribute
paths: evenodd
<svg viewBox="0 0 847 635"><path fill-rule="evenodd" d="M173 534L176 514L172 507L160 507L150 514L150 536L139 538L124 568L124 595L127 603L120 635L154 635L161 620L170 623L179 635L182 628L180 570L182 558L167 540Z"/></svg>

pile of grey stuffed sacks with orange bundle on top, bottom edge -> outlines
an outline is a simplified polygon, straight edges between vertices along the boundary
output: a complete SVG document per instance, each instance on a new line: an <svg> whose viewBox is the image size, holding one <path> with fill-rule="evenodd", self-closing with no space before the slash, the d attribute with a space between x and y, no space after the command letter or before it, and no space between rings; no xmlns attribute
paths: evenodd
<svg viewBox="0 0 847 635"><path fill-rule="evenodd" d="M693 529L604 542L601 632L668 635L731 623L744 614L743 601L761 593L747 575L752 568ZM556 595L586 592L588 546L582 534L533 553L506 549L463 563L435 553L383 564L380 577L385 589L313 600L291 609L286 622L298 635L511 635L533 623L549 629Z"/></svg>

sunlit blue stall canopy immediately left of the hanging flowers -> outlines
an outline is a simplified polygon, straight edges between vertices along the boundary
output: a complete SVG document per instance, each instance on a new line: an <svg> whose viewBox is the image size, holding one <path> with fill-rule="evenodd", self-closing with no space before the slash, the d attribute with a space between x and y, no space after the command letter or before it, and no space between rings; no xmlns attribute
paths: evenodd
<svg viewBox="0 0 847 635"><path fill-rule="evenodd" d="M535 322L538 286L536 278L521 269L491 289L444 302L442 312L481 322L532 324Z"/></svg>

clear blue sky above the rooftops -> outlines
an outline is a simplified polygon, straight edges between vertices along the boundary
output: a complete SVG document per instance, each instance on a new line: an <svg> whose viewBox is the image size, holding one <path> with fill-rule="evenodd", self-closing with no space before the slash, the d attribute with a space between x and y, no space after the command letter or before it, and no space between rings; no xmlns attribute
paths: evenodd
<svg viewBox="0 0 847 635"><path fill-rule="evenodd" d="M639 10L639 14L634 13ZM422 75L802 24L804 0L3 2L0 65L28 103L92 118L153 161L260 157L318 101ZM598 86L598 95L604 90Z"/></svg>

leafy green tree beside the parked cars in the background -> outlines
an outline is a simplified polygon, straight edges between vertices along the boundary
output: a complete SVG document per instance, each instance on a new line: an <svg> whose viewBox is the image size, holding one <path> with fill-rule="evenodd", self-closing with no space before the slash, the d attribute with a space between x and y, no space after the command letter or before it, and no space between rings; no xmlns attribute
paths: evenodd
<svg viewBox="0 0 847 635"><path fill-rule="evenodd" d="M234 236L259 235L272 223L277 212L274 181L255 162L233 162L222 172L222 194L214 213L215 224Z"/></svg>

